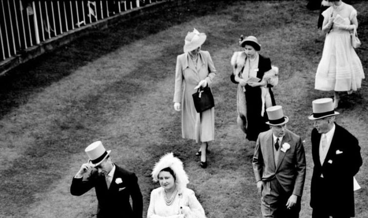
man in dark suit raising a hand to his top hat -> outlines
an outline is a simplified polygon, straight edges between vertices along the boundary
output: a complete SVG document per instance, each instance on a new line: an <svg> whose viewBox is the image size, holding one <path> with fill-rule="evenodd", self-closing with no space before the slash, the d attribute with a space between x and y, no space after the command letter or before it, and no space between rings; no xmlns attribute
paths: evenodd
<svg viewBox="0 0 368 218"><path fill-rule="evenodd" d="M143 199L134 173L118 167L101 141L90 144L89 157L73 178L70 193L80 196L95 188L97 218L142 218ZM129 202L133 201L133 209Z"/></svg>

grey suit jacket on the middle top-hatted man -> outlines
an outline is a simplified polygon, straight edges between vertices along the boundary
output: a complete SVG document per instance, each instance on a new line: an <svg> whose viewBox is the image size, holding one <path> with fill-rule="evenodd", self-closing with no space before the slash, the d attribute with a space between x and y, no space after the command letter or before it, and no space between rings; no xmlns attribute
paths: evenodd
<svg viewBox="0 0 368 218"><path fill-rule="evenodd" d="M255 179L265 181L276 178L288 194L302 196L306 178L306 158L302 140L290 130L286 130L279 149L284 143L289 143L290 149L279 152L278 164L275 165L272 131L259 134L252 161Z"/></svg>

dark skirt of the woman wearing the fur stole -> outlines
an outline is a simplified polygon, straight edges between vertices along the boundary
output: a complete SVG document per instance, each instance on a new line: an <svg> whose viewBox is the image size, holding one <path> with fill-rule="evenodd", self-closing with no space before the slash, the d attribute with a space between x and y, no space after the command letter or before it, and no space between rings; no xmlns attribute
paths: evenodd
<svg viewBox="0 0 368 218"><path fill-rule="evenodd" d="M270 129L269 125L266 124L268 121L267 113L265 111L263 117L261 116L262 111L262 99L261 99L261 88L245 86L245 99L247 101L247 139L250 141L256 141L259 133L265 132ZM272 103L274 102L273 96Z"/></svg>

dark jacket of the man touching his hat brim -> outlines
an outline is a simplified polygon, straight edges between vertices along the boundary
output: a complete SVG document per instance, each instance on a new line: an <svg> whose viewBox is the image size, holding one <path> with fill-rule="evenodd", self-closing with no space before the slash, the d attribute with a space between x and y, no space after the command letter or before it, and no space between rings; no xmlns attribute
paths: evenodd
<svg viewBox="0 0 368 218"><path fill-rule="evenodd" d="M105 177L98 176L97 171L92 171L88 178L73 178L70 193L81 196L95 187L98 200L97 218L142 218L143 199L136 175L115 166L109 189ZM122 182L117 184L116 178L121 178ZM133 210L129 197L133 201Z"/></svg>

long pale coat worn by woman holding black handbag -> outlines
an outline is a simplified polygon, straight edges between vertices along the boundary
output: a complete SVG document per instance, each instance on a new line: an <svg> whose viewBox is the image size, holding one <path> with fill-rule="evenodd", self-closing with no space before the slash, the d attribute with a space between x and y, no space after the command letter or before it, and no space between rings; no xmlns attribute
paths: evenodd
<svg viewBox="0 0 368 218"><path fill-rule="evenodd" d="M213 61L208 51L200 51L198 65L195 67L189 53L177 56L175 69L174 102L181 102L181 130L185 139L196 142L214 140L214 108L197 113L192 95L200 80L206 79L211 87L216 75ZM184 86L184 88L182 87Z"/></svg>

